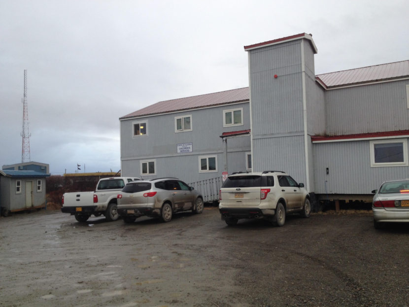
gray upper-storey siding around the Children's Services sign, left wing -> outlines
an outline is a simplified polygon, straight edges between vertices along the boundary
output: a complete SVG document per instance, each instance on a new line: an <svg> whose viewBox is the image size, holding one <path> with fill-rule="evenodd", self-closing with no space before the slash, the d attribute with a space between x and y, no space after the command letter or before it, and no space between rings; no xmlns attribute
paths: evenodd
<svg viewBox="0 0 409 307"><path fill-rule="evenodd" d="M223 127L223 110L243 108L243 125ZM175 133L174 118L192 115L193 131ZM134 122L147 122L147 136L132 137ZM193 143L193 154L223 151L223 132L250 129L249 104L240 103L220 107L163 114L137 120L124 120L121 125L121 159L159 157L177 154L177 144ZM239 142L239 141L238 141Z"/></svg>

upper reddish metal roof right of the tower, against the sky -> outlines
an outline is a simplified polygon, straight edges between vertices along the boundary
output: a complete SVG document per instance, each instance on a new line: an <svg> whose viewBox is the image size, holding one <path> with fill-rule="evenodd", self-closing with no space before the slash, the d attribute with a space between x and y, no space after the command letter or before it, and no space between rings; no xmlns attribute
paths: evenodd
<svg viewBox="0 0 409 307"><path fill-rule="evenodd" d="M409 60L316 75L327 89L408 77Z"/></svg>

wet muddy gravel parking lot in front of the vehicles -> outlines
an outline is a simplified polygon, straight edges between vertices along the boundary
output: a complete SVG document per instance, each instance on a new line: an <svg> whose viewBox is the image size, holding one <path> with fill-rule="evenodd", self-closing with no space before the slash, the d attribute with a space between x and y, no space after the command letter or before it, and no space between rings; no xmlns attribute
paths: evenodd
<svg viewBox="0 0 409 307"><path fill-rule="evenodd" d="M41 210L0 231L0 306L409 306L409 225L376 231L370 211L278 228L217 207L131 225Z"/></svg>

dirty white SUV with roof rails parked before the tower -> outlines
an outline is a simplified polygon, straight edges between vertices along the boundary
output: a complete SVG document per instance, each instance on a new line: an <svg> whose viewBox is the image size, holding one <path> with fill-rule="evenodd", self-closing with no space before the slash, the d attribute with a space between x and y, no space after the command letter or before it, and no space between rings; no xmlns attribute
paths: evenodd
<svg viewBox="0 0 409 307"><path fill-rule="evenodd" d="M219 211L227 225L242 218L265 218L283 226L287 213L308 217L309 194L283 171L233 173L219 192Z"/></svg>

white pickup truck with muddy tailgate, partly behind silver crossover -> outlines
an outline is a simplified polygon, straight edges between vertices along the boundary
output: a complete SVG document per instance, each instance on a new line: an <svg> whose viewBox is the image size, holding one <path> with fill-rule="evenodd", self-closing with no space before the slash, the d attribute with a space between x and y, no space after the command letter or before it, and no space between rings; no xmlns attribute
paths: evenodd
<svg viewBox="0 0 409 307"><path fill-rule="evenodd" d="M61 211L75 215L78 222L86 222L91 214L105 215L107 221L116 221L119 214L116 210L116 196L124 186L136 177L102 178L98 181L95 192L70 192L63 195Z"/></svg>

